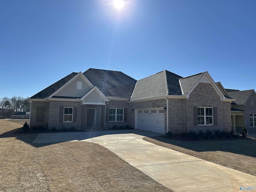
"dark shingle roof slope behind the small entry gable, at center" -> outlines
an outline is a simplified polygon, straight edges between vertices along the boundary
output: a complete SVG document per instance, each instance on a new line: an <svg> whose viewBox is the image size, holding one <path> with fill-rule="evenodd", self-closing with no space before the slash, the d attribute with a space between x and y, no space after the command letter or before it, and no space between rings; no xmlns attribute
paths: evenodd
<svg viewBox="0 0 256 192"><path fill-rule="evenodd" d="M119 71L90 68L83 74L106 97L112 98L130 98L137 82Z"/></svg>

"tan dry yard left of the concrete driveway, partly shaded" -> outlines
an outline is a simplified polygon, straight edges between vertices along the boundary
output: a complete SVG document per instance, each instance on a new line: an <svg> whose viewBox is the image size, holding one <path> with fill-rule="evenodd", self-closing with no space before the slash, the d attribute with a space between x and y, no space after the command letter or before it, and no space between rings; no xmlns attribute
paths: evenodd
<svg viewBox="0 0 256 192"><path fill-rule="evenodd" d="M172 192L98 144L32 144L23 124L0 120L0 191Z"/></svg>

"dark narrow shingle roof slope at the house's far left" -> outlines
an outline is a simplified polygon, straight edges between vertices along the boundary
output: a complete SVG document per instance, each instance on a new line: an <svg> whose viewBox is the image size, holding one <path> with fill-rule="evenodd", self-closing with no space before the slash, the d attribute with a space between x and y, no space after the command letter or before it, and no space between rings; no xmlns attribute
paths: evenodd
<svg viewBox="0 0 256 192"><path fill-rule="evenodd" d="M44 90L38 92L37 94L30 97L30 99L44 99L48 98L51 94L56 92L59 88L61 88L66 82L68 82L70 79L72 79L74 76L76 76L78 73L71 73L68 76L62 78L61 80L57 81L56 83L48 86Z"/></svg>

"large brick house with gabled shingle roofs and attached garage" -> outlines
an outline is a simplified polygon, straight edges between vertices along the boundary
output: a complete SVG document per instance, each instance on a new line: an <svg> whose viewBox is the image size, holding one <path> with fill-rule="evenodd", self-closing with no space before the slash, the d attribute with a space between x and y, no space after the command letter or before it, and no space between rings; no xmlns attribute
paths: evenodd
<svg viewBox="0 0 256 192"><path fill-rule="evenodd" d="M135 80L118 71L73 72L30 97L30 127L135 129L178 134L231 131L230 102L208 72L164 70Z"/></svg>

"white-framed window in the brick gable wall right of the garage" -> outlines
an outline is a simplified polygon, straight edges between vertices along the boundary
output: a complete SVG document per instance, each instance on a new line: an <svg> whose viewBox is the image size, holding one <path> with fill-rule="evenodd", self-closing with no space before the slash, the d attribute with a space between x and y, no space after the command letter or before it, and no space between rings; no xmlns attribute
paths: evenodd
<svg viewBox="0 0 256 192"><path fill-rule="evenodd" d="M198 125L213 125L212 108L198 107L197 115L198 115Z"/></svg>

